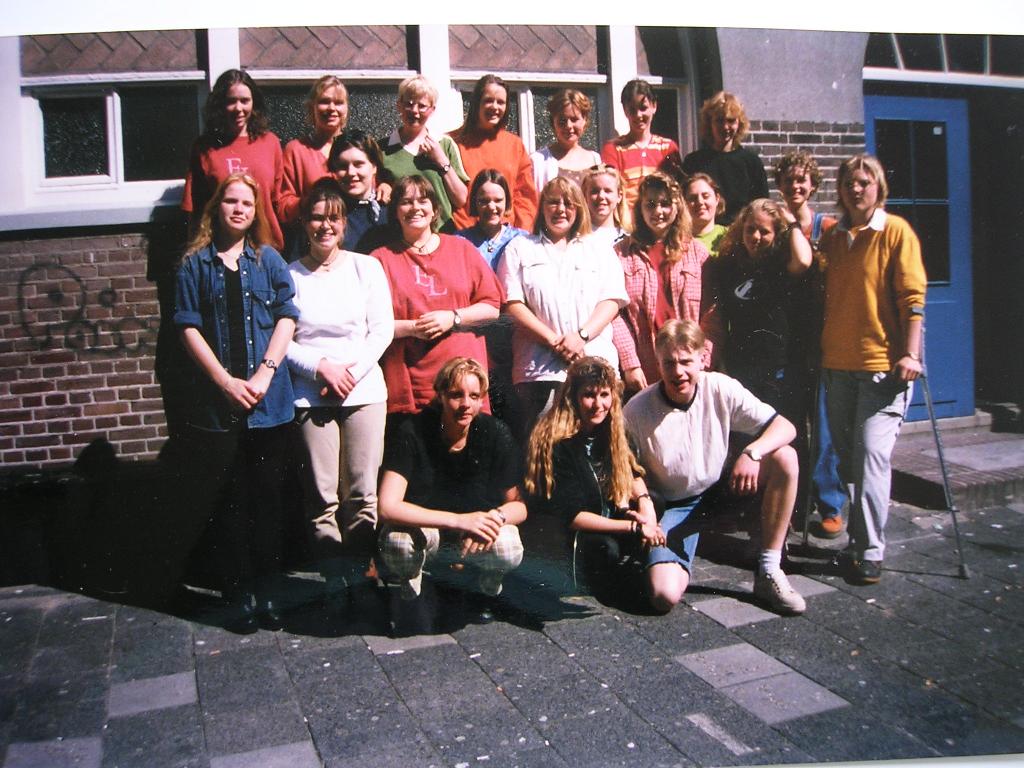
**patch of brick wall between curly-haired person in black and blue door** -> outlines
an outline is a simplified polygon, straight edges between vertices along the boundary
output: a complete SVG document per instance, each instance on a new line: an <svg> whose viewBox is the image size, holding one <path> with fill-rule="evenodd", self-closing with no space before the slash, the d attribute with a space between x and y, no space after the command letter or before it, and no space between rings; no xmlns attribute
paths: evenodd
<svg viewBox="0 0 1024 768"><path fill-rule="evenodd" d="M825 123L796 120L752 120L745 146L757 150L768 173L772 197L781 200L772 178L775 163L792 150L811 153L823 176L811 207L831 211L839 199L836 173L851 155L864 152L863 123ZM817 203L817 205L815 205Z"/></svg>

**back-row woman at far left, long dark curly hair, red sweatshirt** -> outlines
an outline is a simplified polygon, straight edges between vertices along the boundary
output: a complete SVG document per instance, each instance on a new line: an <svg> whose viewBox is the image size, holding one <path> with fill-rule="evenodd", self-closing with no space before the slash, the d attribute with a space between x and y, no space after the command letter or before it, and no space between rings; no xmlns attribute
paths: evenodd
<svg viewBox="0 0 1024 768"><path fill-rule="evenodd" d="M259 182L260 205L270 227L269 245L280 251L285 238L274 211L281 188L281 140L267 129L263 92L242 70L227 70L213 84L203 108L206 130L193 144L181 210L195 234L217 185L244 172Z"/></svg>

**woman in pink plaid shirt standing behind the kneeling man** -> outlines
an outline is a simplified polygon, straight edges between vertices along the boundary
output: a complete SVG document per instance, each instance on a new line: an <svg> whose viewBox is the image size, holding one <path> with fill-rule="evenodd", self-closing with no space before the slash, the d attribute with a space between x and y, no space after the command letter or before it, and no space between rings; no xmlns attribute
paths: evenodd
<svg viewBox="0 0 1024 768"><path fill-rule="evenodd" d="M655 171L640 182L638 194L633 234L615 246L630 297L612 322L627 394L658 381L658 329L673 318L700 323L710 304L701 290L708 249L692 237L679 184Z"/></svg>

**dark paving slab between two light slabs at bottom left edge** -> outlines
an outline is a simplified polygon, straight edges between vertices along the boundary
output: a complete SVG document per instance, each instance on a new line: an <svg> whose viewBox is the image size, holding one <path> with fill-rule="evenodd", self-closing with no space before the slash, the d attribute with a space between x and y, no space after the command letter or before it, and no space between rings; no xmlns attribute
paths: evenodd
<svg viewBox="0 0 1024 768"><path fill-rule="evenodd" d="M104 768L207 765L199 708L195 705L117 718L103 729Z"/></svg>

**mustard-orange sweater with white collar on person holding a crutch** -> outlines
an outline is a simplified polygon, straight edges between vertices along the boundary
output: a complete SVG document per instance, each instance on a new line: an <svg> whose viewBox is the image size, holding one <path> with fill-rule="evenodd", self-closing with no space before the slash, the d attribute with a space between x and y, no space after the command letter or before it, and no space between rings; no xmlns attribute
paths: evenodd
<svg viewBox="0 0 1024 768"><path fill-rule="evenodd" d="M890 371L905 352L906 323L923 316L927 278L921 243L905 219L881 209L868 226L854 231L852 244L845 222L821 237L821 365L836 371Z"/></svg>

